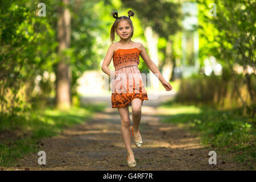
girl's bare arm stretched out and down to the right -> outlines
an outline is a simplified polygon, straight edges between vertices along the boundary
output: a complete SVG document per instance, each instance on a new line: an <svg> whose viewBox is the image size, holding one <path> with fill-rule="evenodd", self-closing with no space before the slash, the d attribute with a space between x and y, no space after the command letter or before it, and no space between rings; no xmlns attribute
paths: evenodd
<svg viewBox="0 0 256 182"><path fill-rule="evenodd" d="M156 67L155 63L147 55L147 51L144 48L144 46L142 45L142 43L139 43L138 47L139 47L139 49L141 49L141 57L147 64L147 67L151 70L151 72L158 74L159 81L162 83L162 85L164 86L164 88L166 88L167 91L172 90L172 86L169 84L169 82L164 80L164 77L160 73L158 67Z"/></svg>

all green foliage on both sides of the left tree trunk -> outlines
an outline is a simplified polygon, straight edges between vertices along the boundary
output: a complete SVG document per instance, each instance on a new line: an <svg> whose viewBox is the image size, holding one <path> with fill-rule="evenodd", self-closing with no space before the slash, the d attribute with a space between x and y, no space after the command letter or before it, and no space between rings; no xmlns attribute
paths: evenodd
<svg viewBox="0 0 256 182"><path fill-rule="evenodd" d="M96 45L105 27L99 9L101 1L70 1L72 14L71 47L64 54L72 69L72 96L76 96L77 79L87 69L99 68L102 55ZM55 82L44 73L56 72L58 9L61 1L44 1L46 16L36 16L40 1L0 1L0 111L10 115L32 107L31 102L55 96ZM104 28L100 32L104 32ZM96 46L98 47L98 46ZM38 79L39 78L39 79ZM39 88L35 89L35 86Z"/></svg>

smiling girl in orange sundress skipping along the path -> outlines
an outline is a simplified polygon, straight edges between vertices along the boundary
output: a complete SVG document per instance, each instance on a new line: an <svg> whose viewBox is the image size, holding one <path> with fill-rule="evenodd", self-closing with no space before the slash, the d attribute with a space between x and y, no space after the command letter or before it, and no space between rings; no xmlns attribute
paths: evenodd
<svg viewBox="0 0 256 182"><path fill-rule="evenodd" d="M144 46L141 43L131 41L134 27L130 16L134 16L133 11L128 11L128 16L118 17L117 12L113 12L110 15L115 18L110 32L112 45L106 53L101 69L104 73L109 75L110 78L114 79L113 83L115 88L113 89L112 87L113 93L111 97L112 108L117 108L121 117L121 133L128 155L127 164L129 167L135 167L137 164L134 159L133 150L131 150L129 106L131 105L132 110L133 127L131 131L133 133L134 142L138 148L141 148L143 143L141 134L139 133L141 106L143 100L148 100L141 73L138 69L139 55L141 55L148 68L158 75L159 81L167 91L172 90L172 86L164 80L158 67L156 67L150 57L148 57ZM113 43L115 33L119 36L120 41ZM112 58L115 71L109 69ZM133 77L130 77L130 75Z"/></svg>

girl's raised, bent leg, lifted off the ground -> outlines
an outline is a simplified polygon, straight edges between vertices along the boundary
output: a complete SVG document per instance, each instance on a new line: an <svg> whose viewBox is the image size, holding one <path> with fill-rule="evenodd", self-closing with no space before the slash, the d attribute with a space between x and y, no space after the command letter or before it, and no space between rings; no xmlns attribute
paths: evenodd
<svg viewBox="0 0 256 182"><path fill-rule="evenodd" d="M131 101L131 111L133 113L133 134L137 142L141 141L141 135L138 133L139 123L141 122L141 105L142 101L139 98L134 98Z"/></svg>

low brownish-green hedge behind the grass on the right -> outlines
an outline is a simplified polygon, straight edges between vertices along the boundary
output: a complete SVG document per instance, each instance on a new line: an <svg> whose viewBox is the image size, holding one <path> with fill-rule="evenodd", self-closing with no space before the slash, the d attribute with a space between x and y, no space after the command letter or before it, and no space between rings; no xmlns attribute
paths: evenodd
<svg viewBox="0 0 256 182"><path fill-rule="evenodd" d="M228 69L223 69L221 76L193 75L180 80L176 101L181 103L204 103L220 108L236 108L242 106L241 98L237 94L241 90L243 101L253 109L248 89L242 76L230 76ZM251 77L251 88L256 89L256 77Z"/></svg>

